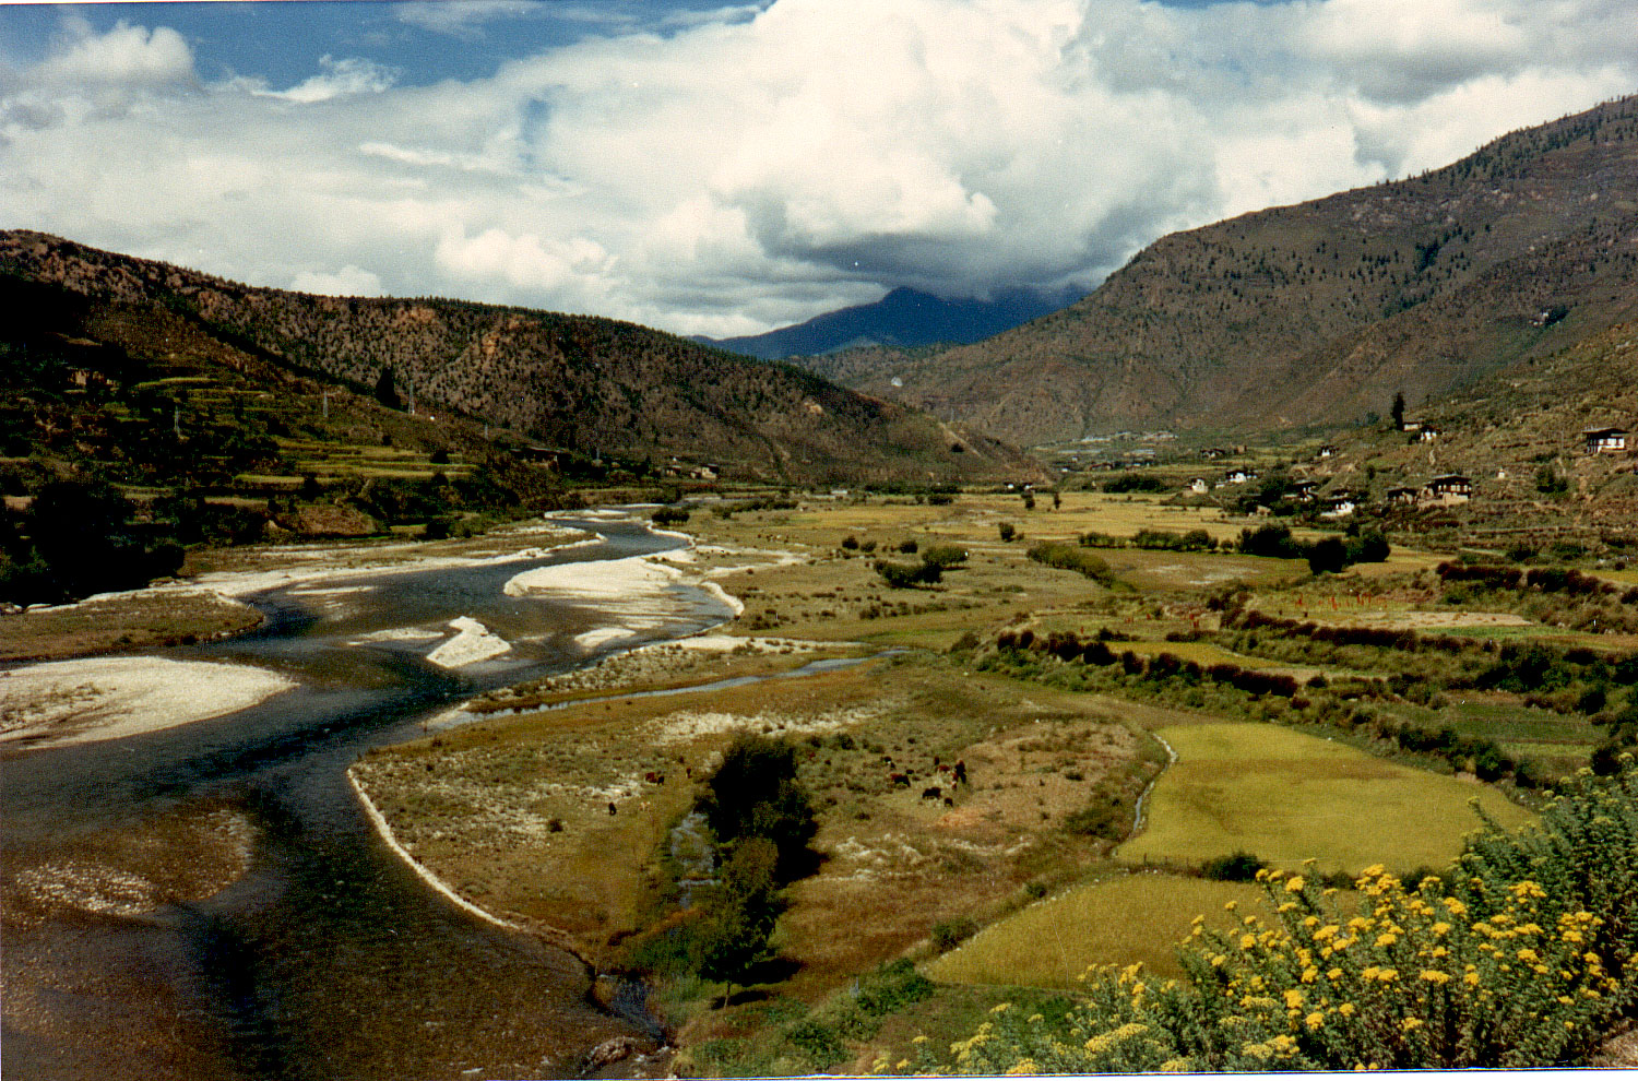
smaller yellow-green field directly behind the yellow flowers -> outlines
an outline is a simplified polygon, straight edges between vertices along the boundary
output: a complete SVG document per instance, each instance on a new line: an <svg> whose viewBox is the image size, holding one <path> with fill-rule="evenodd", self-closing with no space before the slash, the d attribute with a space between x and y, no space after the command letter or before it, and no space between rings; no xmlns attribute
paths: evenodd
<svg viewBox="0 0 1638 1081"><path fill-rule="evenodd" d="M1174 947L1196 916L1224 929L1263 896L1261 886L1178 875L1122 875L1034 904L984 929L927 970L940 983L1075 988L1091 965L1132 965L1181 976Z"/></svg>

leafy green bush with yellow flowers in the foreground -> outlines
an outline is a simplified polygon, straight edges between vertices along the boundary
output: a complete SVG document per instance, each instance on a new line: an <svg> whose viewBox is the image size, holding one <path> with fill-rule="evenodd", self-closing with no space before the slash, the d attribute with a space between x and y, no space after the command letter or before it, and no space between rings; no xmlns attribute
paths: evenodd
<svg viewBox="0 0 1638 1081"><path fill-rule="evenodd" d="M1188 978L1097 968L1052 1019L1006 1006L917 1071L1104 1073L1586 1065L1638 1012L1638 771L1569 781L1538 825L1494 822L1445 878L1366 868L1351 904L1261 871L1266 912L1196 920ZM1227 906L1233 911L1233 904Z"/></svg>

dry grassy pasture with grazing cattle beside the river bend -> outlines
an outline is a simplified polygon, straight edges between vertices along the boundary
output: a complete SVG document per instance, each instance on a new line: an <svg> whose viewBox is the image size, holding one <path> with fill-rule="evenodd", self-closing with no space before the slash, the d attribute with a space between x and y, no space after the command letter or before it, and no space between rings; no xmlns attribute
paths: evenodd
<svg viewBox="0 0 1638 1081"><path fill-rule="evenodd" d="M1037 690L940 662L873 662L498 717L354 770L400 842L459 893L611 958L660 911L657 853L693 801L690 775L734 730L793 739L827 858L794 888L780 934L801 965L794 993L821 994L939 920L993 914L1025 881L1061 881L1107 853L1066 842L1061 824L1138 737L1112 703ZM960 788L939 768L957 760L971 781Z"/></svg>

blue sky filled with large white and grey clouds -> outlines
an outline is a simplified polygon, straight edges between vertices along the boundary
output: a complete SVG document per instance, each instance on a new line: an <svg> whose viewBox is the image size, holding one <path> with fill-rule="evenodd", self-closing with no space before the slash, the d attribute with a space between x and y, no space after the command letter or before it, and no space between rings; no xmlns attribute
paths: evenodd
<svg viewBox="0 0 1638 1081"><path fill-rule="evenodd" d="M0 228L726 337L1078 295L1633 92L1631 0L0 5Z"/></svg>

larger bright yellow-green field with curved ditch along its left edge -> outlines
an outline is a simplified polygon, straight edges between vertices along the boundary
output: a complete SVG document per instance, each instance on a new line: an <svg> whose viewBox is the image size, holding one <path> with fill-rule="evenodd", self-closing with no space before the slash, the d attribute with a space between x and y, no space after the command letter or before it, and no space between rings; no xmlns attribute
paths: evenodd
<svg viewBox="0 0 1638 1081"><path fill-rule="evenodd" d="M1514 827L1530 819L1495 789L1438 776L1315 735L1265 724L1158 732L1178 752L1150 794L1127 863L1199 865L1232 852L1358 873L1443 866L1477 829L1469 801Z"/></svg>

